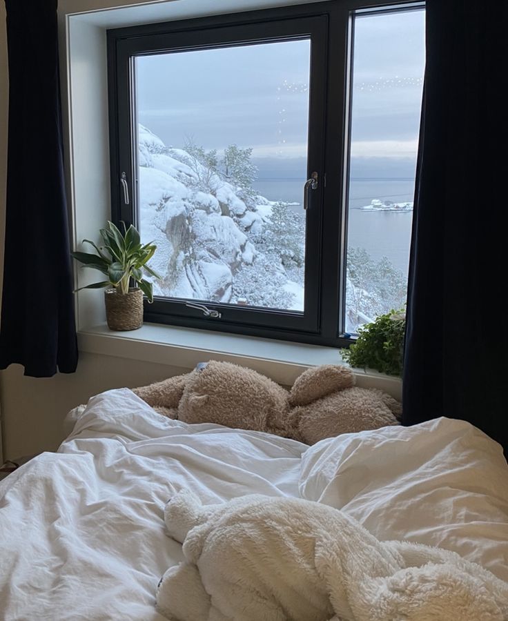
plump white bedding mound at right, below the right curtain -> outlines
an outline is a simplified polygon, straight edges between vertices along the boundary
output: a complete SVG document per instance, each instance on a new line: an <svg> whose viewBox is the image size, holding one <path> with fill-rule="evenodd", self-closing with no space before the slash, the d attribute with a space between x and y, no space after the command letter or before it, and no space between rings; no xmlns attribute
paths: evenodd
<svg viewBox="0 0 508 621"><path fill-rule="evenodd" d="M302 455L299 488L380 540L452 550L508 582L508 465L500 445L467 422L322 440Z"/></svg>

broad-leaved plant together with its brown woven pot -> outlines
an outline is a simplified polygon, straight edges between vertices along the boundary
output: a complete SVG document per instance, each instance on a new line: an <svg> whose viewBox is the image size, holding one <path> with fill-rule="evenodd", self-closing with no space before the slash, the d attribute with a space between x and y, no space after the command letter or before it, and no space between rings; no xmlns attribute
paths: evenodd
<svg viewBox="0 0 508 621"><path fill-rule="evenodd" d="M111 330L136 330L143 324L143 294L148 302L153 302L152 283L144 279L144 274L160 278L147 263L153 257L155 244L141 245L139 233L131 224L124 233L108 221L100 234L104 246L97 246L89 239L83 243L95 248L95 253L70 253L85 267L99 270L107 279L89 284L80 289L106 287L106 320ZM78 289L79 290L79 289Z"/></svg>

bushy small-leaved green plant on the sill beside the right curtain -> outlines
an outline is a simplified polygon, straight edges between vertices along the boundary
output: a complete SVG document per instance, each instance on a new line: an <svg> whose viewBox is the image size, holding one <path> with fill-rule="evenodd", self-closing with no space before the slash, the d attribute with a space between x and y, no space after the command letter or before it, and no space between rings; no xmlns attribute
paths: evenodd
<svg viewBox="0 0 508 621"><path fill-rule="evenodd" d="M375 368L388 375L402 375L406 316L390 311L358 329L358 339L342 357L357 368Z"/></svg>

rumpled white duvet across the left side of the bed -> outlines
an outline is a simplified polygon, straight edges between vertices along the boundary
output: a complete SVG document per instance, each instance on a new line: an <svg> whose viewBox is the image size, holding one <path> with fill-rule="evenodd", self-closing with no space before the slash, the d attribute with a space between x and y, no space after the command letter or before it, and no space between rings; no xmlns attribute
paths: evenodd
<svg viewBox="0 0 508 621"><path fill-rule="evenodd" d="M59 454L0 484L0 619L163 620L155 589L183 558L162 520L173 490L297 495L305 449L168 420L127 388L92 397Z"/></svg>

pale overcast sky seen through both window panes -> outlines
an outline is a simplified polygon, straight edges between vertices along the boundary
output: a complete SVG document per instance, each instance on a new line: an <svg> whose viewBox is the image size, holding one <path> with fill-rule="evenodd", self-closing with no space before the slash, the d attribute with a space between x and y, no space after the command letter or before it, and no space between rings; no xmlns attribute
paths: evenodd
<svg viewBox="0 0 508 621"><path fill-rule="evenodd" d="M304 40L139 57L139 122L168 146L193 139L206 149L237 144L256 158L300 159L309 50ZM352 155L414 159L424 13L357 18L354 50Z"/></svg>

